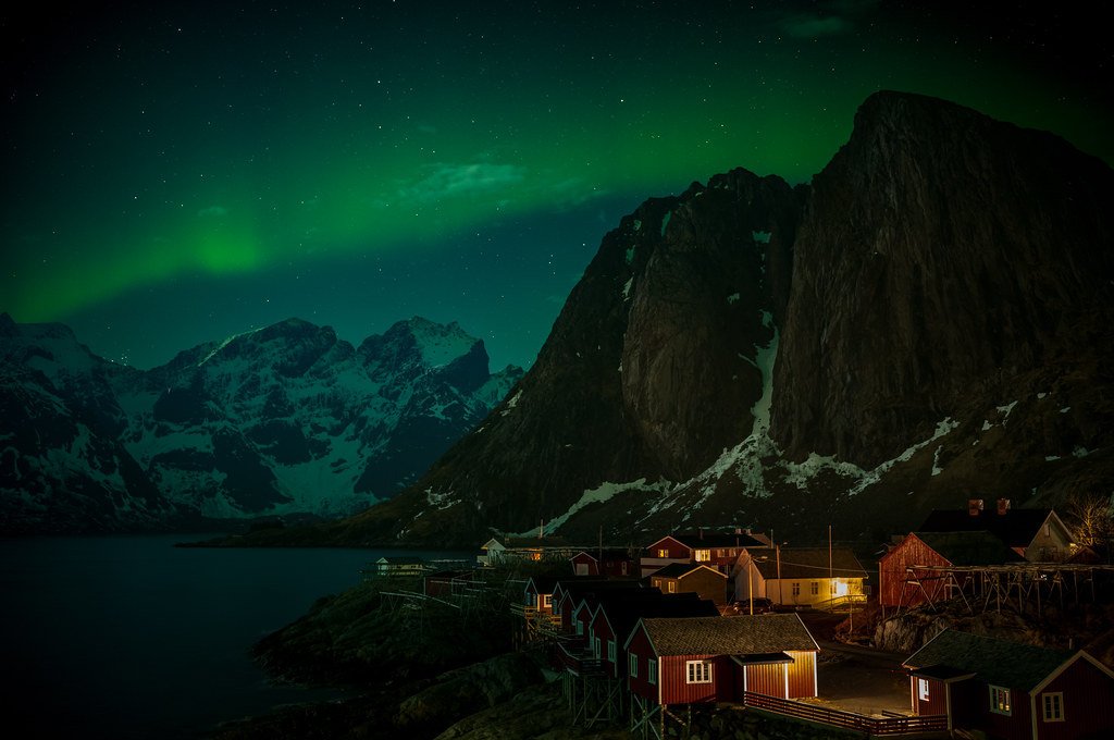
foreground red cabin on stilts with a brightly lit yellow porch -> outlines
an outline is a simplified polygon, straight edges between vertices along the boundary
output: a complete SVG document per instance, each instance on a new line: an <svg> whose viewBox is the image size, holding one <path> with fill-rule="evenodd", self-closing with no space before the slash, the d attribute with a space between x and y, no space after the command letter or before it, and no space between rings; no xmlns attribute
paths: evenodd
<svg viewBox="0 0 1114 740"><path fill-rule="evenodd" d="M643 619L624 648L631 692L651 704L817 695L820 649L797 614Z"/></svg>

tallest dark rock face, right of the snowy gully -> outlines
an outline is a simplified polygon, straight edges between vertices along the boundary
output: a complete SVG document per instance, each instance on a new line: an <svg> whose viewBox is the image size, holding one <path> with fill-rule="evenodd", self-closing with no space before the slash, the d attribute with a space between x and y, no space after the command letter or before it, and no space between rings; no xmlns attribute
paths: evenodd
<svg viewBox="0 0 1114 740"><path fill-rule="evenodd" d="M862 466L959 413L971 386L1088 343L1112 305L1110 168L1062 139L879 94L813 181L774 388L790 458ZM1105 311L1108 314L1108 310Z"/></svg>

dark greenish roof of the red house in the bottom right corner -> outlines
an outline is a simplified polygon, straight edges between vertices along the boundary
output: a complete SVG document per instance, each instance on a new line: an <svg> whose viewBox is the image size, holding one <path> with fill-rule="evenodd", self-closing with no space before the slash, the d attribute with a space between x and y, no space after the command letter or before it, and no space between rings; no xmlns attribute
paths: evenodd
<svg viewBox="0 0 1114 740"><path fill-rule="evenodd" d="M945 630L910 655L903 665L913 670L936 668L974 673L986 683L1028 691L1071 655L1072 651Z"/></svg>

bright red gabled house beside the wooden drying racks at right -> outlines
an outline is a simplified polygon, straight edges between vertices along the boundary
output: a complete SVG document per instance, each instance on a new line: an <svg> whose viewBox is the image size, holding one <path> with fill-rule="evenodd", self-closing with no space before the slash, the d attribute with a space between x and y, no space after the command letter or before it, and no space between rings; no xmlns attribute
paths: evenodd
<svg viewBox="0 0 1114 740"><path fill-rule="evenodd" d="M878 561L878 603L916 606L980 587L968 576L934 568L1019 562L1020 555L988 532L912 532Z"/></svg>

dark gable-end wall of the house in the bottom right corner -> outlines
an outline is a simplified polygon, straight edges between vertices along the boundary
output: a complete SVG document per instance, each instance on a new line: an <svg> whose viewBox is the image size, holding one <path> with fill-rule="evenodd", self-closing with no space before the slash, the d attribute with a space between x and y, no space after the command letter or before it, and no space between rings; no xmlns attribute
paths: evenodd
<svg viewBox="0 0 1114 740"><path fill-rule="evenodd" d="M1044 721L1046 693L1061 692L1064 721ZM1076 660L1045 687L1036 699L1037 740L1103 737L1114 728L1114 679L1086 660Z"/></svg>

